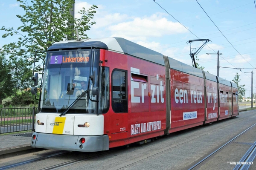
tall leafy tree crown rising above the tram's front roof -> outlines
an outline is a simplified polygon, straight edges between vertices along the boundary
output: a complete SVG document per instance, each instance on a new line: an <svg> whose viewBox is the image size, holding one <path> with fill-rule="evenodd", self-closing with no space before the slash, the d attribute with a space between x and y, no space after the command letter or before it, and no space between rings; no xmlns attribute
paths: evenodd
<svg viewBox="0 0 256 170"><path fill-rule="evenodd" d="M90 30L91 22L96 13L97 6L93 5L88 10L83 8L79 14L81 18L74 19L70 15L70 9L74 0L17 0L20 7L24 9L24 15L16 15L22 25L17 29L6 28L1 30L7 33L2 37L18 35L18 41L3 46L3 53L10 58L20 56L27 58L30 64L34 61L37 50L46 51L53 43L67 40L73 37L75 28L79 30L82 38L87 38L85 32ZM36 61L45 62L45 53L39 53Z"/></svg>

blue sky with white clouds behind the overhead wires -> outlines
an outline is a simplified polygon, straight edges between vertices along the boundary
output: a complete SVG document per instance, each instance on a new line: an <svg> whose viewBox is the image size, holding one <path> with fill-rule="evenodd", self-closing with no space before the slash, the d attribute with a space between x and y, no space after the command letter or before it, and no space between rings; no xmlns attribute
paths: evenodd
<svg viewBox="0 0 256 170"><path fill-rule="evenodd" d="M156 3L155 3L156 2ZM93 21L96 25L87 32L90 38L124 37L135 43L153 49L183 63L192 65L189 56L188 40L209 39L212 42L198 54L200 66L206 71L217 75L217 55L206 53L223 53L220 57L220 77L232 80L239 73L241 81L247 89L246 97L250 96L251 72L256 68L256 7L253 0L76 0L75 15L82 7L88 9L96 5L97 13ZM185 29L172 16L183 24ZM0 0L0 26L14 27L21 25L17 14L23 14L16 0ZM0 35L5 32L0 31ZM0 47L6 43L17 41L17 36L1 38ZM201 43L192 43L192 47L200 47ZM212 49L210 49L212 48ZM237 51L238 52L237 52ZM240 55L240 54L241 55ZM253 70L256 72L256 70ZM256 91L256 73L253 74L253 92Z"/></svg>

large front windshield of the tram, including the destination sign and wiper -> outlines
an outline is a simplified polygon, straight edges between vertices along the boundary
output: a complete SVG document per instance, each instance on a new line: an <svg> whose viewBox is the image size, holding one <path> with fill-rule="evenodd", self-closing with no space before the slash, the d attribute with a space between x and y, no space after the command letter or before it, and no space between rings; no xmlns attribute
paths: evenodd
<svg viewBox="0 0 256 170"><path fill-rule="evenodd" d="M96 114L97 96L90 94L93 82L89 77L95 74L94 86L97 86L99 50L94 51L93 55L90 52L88 49L48 53L41 112L64 112L72 104L68 113ZM79 101L76 101L77 98Z"/></svg>

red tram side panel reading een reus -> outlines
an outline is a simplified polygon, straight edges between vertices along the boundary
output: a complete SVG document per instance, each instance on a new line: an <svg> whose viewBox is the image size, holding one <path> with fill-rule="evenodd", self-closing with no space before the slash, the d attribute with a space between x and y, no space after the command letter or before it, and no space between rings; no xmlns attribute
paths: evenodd
<svg viewBox="0 0 256 170"><path fill-rule="evenodd" d="M203 124L204 78L171 69L171 132Z"/></svg>

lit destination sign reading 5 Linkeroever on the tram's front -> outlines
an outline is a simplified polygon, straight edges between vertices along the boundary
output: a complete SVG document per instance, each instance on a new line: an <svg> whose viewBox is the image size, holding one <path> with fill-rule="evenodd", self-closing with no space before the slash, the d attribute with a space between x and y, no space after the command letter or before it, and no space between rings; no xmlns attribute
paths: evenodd
<svg viewBox="0 0 256 170"><path fill-rule="evenodd" d="M78 55L52 55L50 64L61 64L61 63L87 63L89 57L80 57Z"/></svg>

